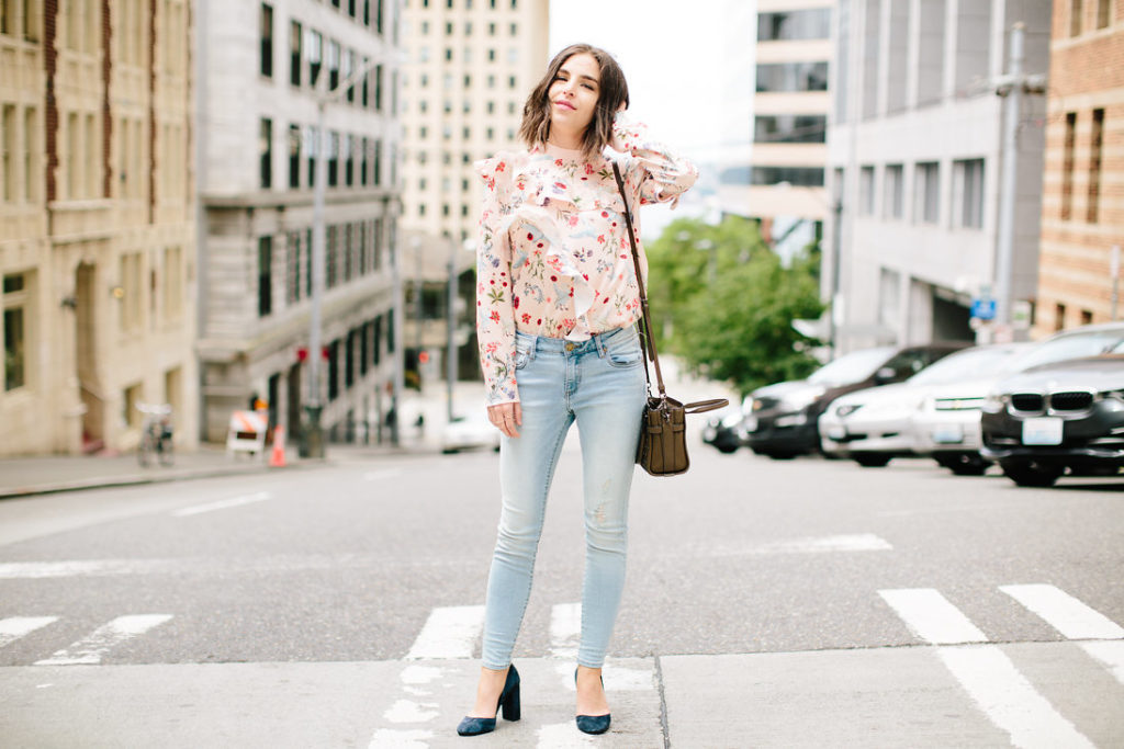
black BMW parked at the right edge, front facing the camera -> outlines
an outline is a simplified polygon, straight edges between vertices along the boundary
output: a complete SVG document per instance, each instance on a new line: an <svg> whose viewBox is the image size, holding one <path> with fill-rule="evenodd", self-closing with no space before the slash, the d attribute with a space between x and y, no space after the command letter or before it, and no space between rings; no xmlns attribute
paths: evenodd
<svg viewBox="0 0 1124 749"><path fill-rule="evenodd" d="M1124 354L1034 367L1000 382L980 421L986 458L1019 486L1124 467Z"/></svg>

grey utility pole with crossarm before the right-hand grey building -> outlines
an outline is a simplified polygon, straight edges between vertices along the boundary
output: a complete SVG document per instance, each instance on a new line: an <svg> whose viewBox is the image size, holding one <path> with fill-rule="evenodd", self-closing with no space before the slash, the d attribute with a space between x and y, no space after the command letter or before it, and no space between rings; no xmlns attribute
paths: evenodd
<svg viewBox="0 0 1124 749"><path fill-rule="evenodd" d="M1022 21L1012 27L1007 74L999 76L994 82L996 95L1007 100L1003 119L1003 171L999 177L999 230L996 238L994 284L997 332L1005 331L1010 327L1018 176L1018 124L1022 118L1023 94L1045 93L1046 83L1046 77L1043 74L1027 75L1023 72L1023 31L1025 28Z"/></svg>

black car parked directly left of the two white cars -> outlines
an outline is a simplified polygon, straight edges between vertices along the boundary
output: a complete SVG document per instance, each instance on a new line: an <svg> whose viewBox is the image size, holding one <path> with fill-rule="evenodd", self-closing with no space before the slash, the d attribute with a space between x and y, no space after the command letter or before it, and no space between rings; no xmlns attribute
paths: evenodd
<svg viewBox="0 0 1124 749"><path fill-rule="evenodd" d="M765 385L753 391L745 415L745 442L758 455L791 458L819 449L819 414L840 395L863 387L901 382L933 362L970 344L953 341L883 346L845 354L807 380Z"/></svg>

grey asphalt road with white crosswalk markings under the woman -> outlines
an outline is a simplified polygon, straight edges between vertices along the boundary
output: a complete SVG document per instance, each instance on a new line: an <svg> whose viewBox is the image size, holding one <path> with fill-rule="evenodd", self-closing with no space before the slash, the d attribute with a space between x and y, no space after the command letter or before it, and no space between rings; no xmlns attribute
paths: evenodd
<svg viewBox="0 0 1124 749"><path fill-rule="evenodd" d="M1124 746L1124 483L692 459L634 484L600 746ZM463 746L496 473L338 450L0 503L0 743ZM580 506L572 439L524 720L479 746L586 746Z"/></svg>

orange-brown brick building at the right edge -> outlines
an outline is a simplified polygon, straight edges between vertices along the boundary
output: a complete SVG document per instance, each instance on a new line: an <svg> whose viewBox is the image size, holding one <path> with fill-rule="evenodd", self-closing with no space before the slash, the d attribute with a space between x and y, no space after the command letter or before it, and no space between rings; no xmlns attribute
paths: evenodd
<svg viewBox="0 0 1124 749"><path fill-rule="evenodd" d="M1120 319L1124 2L1055 0L1036 329Z"/></svg>

